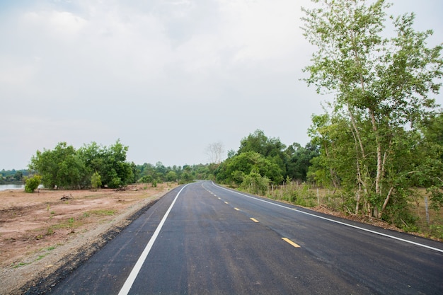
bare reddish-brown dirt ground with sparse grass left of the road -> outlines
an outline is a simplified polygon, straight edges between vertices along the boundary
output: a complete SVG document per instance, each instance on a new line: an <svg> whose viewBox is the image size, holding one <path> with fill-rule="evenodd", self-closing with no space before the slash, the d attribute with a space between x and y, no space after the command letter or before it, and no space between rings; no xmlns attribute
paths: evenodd
<svg viewBox="0 0 443 295"><path fill-rule="evenodd" d="M41 294L175 186L1 191L0 294Z"/></svg>

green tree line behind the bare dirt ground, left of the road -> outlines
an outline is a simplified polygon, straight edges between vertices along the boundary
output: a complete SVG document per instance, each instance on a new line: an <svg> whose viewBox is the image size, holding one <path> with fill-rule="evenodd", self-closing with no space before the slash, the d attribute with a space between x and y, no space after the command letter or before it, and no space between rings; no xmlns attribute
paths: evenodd
<svg viewBox="0 0 443 295"><path fill-rule="evenodd" d="M194 179L210 179L214 164L192 166L163 166L144 163L136 165L126 161L129 146L120 140L111 146L96 142L84 144L79 149L59 142L54 149L36 151L30 160L26 187L33 192L40 185L62 189L84 189L98 187L124 187L133 183L163 183L165 181L189 183Z"/></svg>

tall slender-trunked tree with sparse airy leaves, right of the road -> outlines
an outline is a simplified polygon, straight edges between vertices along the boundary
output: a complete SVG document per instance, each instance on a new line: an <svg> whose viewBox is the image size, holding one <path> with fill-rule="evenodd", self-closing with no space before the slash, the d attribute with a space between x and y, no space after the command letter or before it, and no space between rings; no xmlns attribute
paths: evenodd
<svg viewBox="0 0 443 295"><path fill-rule="evenodd" d="M306 81L335 93L330 120L313 127L323 165L332 180L353 187L356 212L363 203L380 218L404 201L415 174L408 151L418 138L415 128L436 108L429 95L441 86L442 46L427 48L432 30L415 32L413 13L391 17L395 34L384 37L390 6L384 0L313 2L319 6L303 8L302 18L304 35L318 47Z"/></svg>

